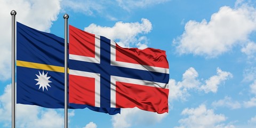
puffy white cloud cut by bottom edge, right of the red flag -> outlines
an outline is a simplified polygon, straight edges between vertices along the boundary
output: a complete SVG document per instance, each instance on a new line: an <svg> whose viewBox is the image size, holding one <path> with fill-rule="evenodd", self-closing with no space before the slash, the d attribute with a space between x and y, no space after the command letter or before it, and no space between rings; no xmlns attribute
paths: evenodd
<svg viewBox="0 0 256 128"><path fill-rule="evenodd" d="M186 108L181 115L187 116L179 120L179 127L234 127L233 125L221 124L227 117L223 114L214 114L213 109L207 109L205 105L197 108Z"/></svg>

